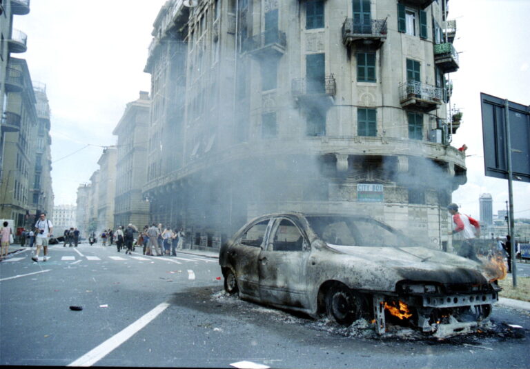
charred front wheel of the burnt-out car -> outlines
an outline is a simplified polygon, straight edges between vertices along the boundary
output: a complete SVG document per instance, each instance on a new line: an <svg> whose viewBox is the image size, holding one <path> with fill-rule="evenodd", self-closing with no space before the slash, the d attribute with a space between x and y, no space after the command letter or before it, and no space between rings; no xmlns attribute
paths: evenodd
<svg viewBox="0 0 530 369"><path fill-rule="evenodd" d="M360 318L360 306L355 293L344 285L333 286L326 293L328 317L343 326Z"/></svg>

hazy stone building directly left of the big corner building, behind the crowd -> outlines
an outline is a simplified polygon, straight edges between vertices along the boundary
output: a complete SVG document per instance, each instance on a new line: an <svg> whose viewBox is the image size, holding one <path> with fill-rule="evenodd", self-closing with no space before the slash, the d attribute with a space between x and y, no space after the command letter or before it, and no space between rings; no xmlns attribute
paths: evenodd
<svg viewBox="0 0 530 369"><path fill-rule="evenodd" d="M149 222L149 203L141 193L147 181L149 108L149 93L140 91L112 132L118 138L115 227L133 223L141 228Z"/></svg>

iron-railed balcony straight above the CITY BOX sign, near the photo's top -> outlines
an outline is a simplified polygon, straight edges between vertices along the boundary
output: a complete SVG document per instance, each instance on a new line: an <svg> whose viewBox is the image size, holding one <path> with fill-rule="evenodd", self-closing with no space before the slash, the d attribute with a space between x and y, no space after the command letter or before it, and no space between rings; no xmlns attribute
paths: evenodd
<svg viewBox="0 0 530 369"><path fill-rule="evenodd" d="M355 23L352 18L348 18L342 25L342 43L345 46L357 44L380 48L384 40L386 40L386 19Z"/></svg>

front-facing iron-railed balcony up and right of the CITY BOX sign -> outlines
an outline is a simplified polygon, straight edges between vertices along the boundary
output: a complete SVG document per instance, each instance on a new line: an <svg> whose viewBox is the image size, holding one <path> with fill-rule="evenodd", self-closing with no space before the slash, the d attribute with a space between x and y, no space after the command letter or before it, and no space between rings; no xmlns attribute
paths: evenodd
<svg viewBox="0 0 530 369"><path fill-rule="evenodd" d="M443 89L418 81L400 83L400 103L404 109L430 112L442 104Z"/></svg>

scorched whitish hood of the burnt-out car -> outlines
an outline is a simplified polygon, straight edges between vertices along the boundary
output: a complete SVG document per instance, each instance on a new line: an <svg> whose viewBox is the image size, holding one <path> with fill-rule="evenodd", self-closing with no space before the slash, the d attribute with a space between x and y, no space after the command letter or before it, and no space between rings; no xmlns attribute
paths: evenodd
<svg viewBox="0 0 530 369"><path fill-rule="evenodd" d="M488 284L480 263L429 248L391 248L336 246L328 247L349 255L365 265L383 266L400 280L434 281L442 284Z"/></svg>

